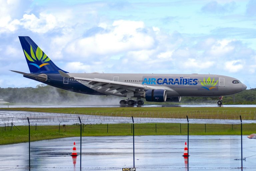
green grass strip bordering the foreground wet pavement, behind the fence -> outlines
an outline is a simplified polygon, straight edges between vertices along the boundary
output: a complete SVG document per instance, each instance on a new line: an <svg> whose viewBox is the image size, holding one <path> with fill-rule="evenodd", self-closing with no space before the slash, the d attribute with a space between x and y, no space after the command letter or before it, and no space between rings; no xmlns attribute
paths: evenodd
<svg viewBox="0 0 256 171"><path fill-rule="evenodd" d="M135 124L135 135L187 135L187 124ZM18 130L18 129L19 130ZM28 142L28 126L0 127L0 145ZM243 134L255 133L256 124L243 124ZM132 124L89 124L82 128L82 136L131 136ZM190 124L190 135L240 135L240 124ZM31 141L79 137L80 125L30 126Z"/></svg>

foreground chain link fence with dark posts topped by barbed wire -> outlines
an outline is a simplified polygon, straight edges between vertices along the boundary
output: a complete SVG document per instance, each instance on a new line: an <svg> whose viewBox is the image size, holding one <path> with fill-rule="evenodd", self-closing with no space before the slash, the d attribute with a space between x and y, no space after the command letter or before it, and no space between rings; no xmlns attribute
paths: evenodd
<svg viewBox="0 0 256 171"><path fill-rule="evenodd" d="M42 113L1 117L0 170L256 169L256 140L247 138L255 133L253 120L136 117L133 123L118 114ZM77 157L71 156L74 142ZM189 157L182 156L185 142Z"/></svg>

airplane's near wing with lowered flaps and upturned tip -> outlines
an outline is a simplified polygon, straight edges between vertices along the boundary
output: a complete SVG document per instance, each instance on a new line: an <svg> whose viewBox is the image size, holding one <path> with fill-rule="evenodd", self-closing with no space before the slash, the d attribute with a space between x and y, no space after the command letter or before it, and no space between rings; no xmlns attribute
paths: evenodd
<svg viewBox="0 0 256 171"><path fill-rule="evenodd" d="M59 71L61 76L67 77L67 78L73 78L76 80L82 80L82 81L88 81L91 85L90 88L96 88L95 90L100 89L106 89L106 91L112 91L113 94L120 93L126 90L130 91L145 91L150 89L164 89L166 91L174 91L173 89L165 86L150 86L150 85L142 85L142 84L134 84L134 83L125 83L125 82L119 82L119 81L111 81L111 80L105 80L105 79L99 79L99 78L82 78L82 77L72 77L68 75L67 73L64 73L63 71Z"/></svg>

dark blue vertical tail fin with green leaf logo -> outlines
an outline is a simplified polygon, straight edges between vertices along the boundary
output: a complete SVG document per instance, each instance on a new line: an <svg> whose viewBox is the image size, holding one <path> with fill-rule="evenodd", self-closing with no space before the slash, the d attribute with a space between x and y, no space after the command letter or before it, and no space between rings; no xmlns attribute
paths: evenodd
<svg viewBox="0 0 256 171"><path fill-rule="evenodd" d="M30 73L63 71L28 36L19 36ZM66 71L63 71L67 73Z"/></svg>

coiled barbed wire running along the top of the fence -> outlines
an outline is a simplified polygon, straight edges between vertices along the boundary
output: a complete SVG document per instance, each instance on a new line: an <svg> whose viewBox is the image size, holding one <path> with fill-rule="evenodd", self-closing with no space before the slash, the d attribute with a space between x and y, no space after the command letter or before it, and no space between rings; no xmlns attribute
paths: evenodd
<svg viewBox="0 0 256 171"><path fill-rule="evenodd" d="M186 116L194 123L202 122L236 122L242 116L246 122L256 122L256 111L234 111L228 110L195 110L195 111L170 111L170 112L90 112L79 114L76 111L70 114L62 113L39 113L39 112L17 112L17 111L1 111L0 124L3 123L20 123L27 124L27 117L31 123L45 123L45 124L73 124L79 123L78 116L80 116L83 123L130 123L131 116L134 117L135 122L173 122L186 123Z"/></svg>

